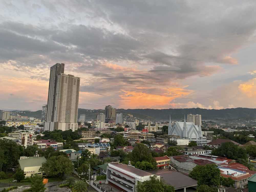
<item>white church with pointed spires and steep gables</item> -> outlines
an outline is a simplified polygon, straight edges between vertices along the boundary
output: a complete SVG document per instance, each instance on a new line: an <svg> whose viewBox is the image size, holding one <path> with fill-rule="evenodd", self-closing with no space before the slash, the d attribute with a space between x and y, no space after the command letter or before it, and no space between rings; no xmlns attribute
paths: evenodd
<svg viewBox="0 0 256 192"><path fill-rule="evenodd" d="M178 135L180 138L188 139L190 141L196 141L198 145L206 144L206 137L203 137L201 125L197 126L193 122L175 121L172 126L171 116L168 126L168 135Z"/></svg>

